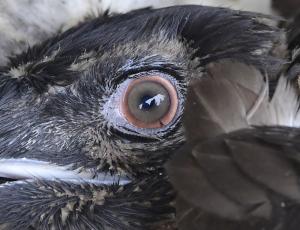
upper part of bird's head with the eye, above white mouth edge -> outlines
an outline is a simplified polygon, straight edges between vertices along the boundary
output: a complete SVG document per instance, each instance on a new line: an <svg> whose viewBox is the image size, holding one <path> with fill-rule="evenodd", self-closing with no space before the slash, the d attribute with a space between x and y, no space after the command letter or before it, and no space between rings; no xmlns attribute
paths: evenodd
<svg viewBox="0 0 300 230"><path fill-rule="evenodd" d="M183 143L186 85L208 63L241 59L276 72L269 53L279 31L260 19L201 6L140 10L85 22L12 58L1 69L1 158L154 170Z"/></svg>

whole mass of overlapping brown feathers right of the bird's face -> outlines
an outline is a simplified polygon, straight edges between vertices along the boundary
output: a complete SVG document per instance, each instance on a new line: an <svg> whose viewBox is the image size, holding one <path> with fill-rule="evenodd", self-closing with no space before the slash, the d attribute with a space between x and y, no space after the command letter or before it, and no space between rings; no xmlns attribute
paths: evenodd
<svg viewBox="0 0 300 230"><path fill-rule="evenodd" d="M294 229L290 213L300 207L298 108L297 90L287 78L280 77L270 97L268 76L245 64L211 64L192 82L184 114L188 143L167 164L178 192L180 229L211 219L228 230Z"/></svg>

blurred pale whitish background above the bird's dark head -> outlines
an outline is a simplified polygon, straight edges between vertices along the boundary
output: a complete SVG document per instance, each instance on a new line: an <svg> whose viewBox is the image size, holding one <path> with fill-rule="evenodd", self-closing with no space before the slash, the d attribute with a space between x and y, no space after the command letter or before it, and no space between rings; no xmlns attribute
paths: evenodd
<svg viewBox="0 0 300 230"><path fill-rule="evenodd" d="M0 65L90 15L145 7L199 4L292 17L300 0L0 0ZM300 17L298 17L300 23Z"/></svg>

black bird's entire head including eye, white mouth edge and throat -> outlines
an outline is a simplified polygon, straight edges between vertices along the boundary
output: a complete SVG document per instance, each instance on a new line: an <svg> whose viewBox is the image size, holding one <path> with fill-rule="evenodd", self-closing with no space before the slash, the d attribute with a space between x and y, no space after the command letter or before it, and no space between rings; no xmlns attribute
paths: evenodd
<svg viewBox="0 0 300 230"><path fill-rule="evenodd" d="M195 5L106 13L9 57L0 229L176 229L164 165L187 143L188 85L227 59L277 82L278 23Z"/></svg>

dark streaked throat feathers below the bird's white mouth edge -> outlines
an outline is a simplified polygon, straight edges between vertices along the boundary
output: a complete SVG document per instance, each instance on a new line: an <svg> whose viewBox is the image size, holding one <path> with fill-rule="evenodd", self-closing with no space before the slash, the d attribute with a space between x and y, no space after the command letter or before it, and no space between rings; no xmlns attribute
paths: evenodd
<svg viewBox="0 0 300 230"><path fill-rule="evenodd" d="M174 212L163 177L124 186L33 179L1 187L0 229L157 229Z"/></svg>

